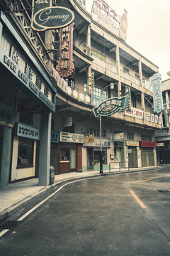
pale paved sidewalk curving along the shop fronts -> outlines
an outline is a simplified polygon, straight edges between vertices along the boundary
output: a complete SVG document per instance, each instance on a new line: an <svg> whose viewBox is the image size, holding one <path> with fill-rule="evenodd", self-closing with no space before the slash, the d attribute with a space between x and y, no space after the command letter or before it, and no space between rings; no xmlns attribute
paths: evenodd
<svg viewBox="0 0 170 256"><path fill-rule="evenodd" d="M133 171L147 171L154 169L167 169L168 166L163 167L143 167L143 168L133 168L128 171L124 169L119 172L115 169L111 173L109 171L104 171L104 174L122 174ZM50 186L38 186L38 178L32 178L26 181L20 181L16 183L9 183L8 186L0 188L0 223L10 218L13 213L18 210L26 208L30 203L33 203L40 196L45 195L45 193L52 191L56 186L62 186L63 183L69 181L79 180L81 178L91 178L101 176L99 171L86 171L83 173L71 172L68 174L55 175L55 182Z"/></svg>

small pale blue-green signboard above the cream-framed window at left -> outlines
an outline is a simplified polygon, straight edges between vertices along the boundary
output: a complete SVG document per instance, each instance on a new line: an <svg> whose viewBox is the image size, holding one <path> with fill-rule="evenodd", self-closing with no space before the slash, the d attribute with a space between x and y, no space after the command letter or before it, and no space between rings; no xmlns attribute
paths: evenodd
<svg viewBox="0 0 170 256"><path fill-rule="evenodd" d="M29 127L26 124L16 124L16 136L24 137L28 139L40 139L40 131L39 129L35 129L33 127Z"/></svg>

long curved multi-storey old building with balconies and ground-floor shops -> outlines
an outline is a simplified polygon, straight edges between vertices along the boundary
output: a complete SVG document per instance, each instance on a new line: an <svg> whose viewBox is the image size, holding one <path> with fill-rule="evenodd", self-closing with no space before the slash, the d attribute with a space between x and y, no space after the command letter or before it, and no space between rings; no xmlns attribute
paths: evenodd
<svg viewBox="0 0 170 256"><path fill-rule="evenodd" d="M91 14L85 1L45 2L72 11L72 23L38 32L32 1L0 3L1 186L33 176L47 185L50 165L55 174L99 170L93 108L127 90L129 108L101 118L103 169L155 166L162 114L153 112L149 84L159 70L126 43L127 11L106 1L94 1Z"/></svg>

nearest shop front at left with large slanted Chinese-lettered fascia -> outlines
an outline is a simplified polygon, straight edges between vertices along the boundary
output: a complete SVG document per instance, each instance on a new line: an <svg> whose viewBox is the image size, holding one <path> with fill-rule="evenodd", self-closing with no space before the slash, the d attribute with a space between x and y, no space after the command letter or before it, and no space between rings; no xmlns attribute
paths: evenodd
<svg viewBox="0 0 170 256"><path fill-rule="evenodd" d="M14 123L18 123L13 133L10 126L2 124L4 127L1 128L0 134L0 143L3 144L1 159L8 156L8 167L4 160L1 160L1 186L35 176L35 149L38 139L39 185L46 186L50 182L50 175L47 173L50 174L51 113L55 112L56 89L41 68L41 63L33 57L18 31L2 12L0 67L0 102L6 107L11 107L10 115L10 112L4 113L4 105L0 106L1 116L9 119L14 116L12 111L16 112ZM30 122L30 117L33 122Z"/></svg>

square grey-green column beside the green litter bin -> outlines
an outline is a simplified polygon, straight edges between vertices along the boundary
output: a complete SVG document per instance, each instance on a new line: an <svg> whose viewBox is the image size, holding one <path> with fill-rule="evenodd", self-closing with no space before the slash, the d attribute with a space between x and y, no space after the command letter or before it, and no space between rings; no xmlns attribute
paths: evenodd
<svg viewBox="0 0 170 256"><path fill-rule="evenodd" d="M52 113L41 114L39 186L47 186L50 183L51 119Z"/></svg>

